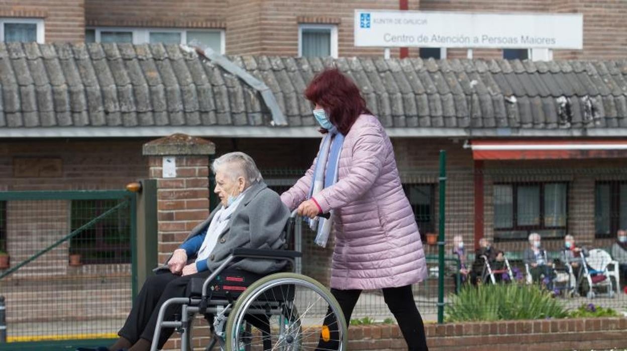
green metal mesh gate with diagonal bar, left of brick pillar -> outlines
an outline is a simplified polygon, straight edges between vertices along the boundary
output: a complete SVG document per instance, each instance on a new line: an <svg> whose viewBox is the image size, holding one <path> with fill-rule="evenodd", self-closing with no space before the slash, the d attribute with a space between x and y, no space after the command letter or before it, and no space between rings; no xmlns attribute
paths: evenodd
<svg viewBox="0 0 627 351"><path fill-rule="evenodd" d="M10 261L0 261L0 350L117 338L137 289L135 201L125 190L0 192L0 252Z"/></svg>

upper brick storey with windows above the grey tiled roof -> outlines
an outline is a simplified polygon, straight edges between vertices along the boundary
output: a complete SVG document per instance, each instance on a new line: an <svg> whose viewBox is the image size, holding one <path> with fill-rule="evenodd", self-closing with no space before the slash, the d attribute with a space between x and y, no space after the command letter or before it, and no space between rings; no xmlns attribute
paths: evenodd
<svg viewBox="0 0 627 351"><path fill-rule="evenodd" d="M619 0L560 1L39 1L9 0L0 20L4 41L198 43L228 55L382 56L353 45L355 9L483 13L581 13L583 50L556 50L557 59L615 59L627 48L621 33L627 4ZM392 50L392 56L401 50ZM411 48L403 56L466 58L465 48ZM526 58L529 50L477 49L473 58Z"/></svg>

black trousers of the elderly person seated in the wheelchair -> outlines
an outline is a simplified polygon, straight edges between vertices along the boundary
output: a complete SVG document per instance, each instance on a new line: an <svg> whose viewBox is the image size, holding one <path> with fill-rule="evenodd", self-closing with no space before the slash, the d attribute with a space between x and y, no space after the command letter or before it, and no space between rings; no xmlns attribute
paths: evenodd
<svg viewBox="0 0 627 351"><path fill-rule="evenodd" d="M146 279L142 290L139 292L130 310L129 316L120 329L118 335L132 343L140 338L152 342L159 309L170 298L187 296L187 283L191 278L207 278L210 271L204 271L189 276L179 276L165 271L157 273ZM176 313L181 313L181 305L172 305L166 310L165 320L173 320ZM159 336L159 348L161 349L167 339L174 332L174 328L164 328Z"/></svg>

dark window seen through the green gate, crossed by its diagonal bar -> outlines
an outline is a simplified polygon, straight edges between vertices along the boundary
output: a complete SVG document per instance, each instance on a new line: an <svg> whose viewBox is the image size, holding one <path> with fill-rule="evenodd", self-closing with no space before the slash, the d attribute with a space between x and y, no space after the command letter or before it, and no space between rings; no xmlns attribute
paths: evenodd
<svg viewBox="0 0 627 351"><path fill-rule="evenodd" d="M72 200L71 231L118 204L119 200ZM86 264L130 263L130 215L121 208L83 229L70 240L70 253Z"/></svg>

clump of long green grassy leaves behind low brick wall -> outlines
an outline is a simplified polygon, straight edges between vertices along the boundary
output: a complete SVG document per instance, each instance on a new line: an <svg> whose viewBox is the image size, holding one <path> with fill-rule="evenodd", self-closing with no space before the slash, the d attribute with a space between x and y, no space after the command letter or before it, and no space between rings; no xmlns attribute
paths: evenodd
<svg viewBox="0 0 627 351"><path fill-rule="evenodd" d="M495 321L564 318L561 301L535 285L497 284L464 286L451 294L446 321Z"/></svg>

